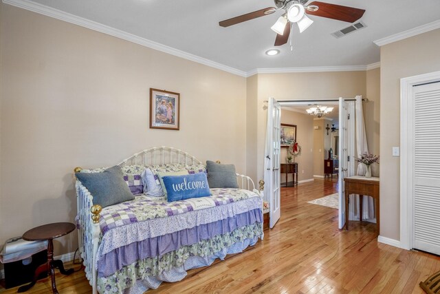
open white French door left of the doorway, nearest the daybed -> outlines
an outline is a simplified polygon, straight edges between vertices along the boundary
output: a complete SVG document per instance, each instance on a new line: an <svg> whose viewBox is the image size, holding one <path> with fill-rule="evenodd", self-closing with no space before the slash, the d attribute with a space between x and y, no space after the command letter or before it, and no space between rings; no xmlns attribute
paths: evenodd
<svg viewBox="0 0 440 294"><path fill-rule="evenodd" d="M281 217L281 105L269 98L267 105L267 132L265 146L265 187L264 194L269 197L270 228L272 229Z"/></svg>

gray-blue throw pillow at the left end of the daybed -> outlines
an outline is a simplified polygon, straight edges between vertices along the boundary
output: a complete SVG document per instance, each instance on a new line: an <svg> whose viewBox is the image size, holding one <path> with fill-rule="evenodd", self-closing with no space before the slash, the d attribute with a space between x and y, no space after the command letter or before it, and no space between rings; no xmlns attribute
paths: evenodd
<svg viewBox="0 0 440 294"><path fill-rule="evenodd" d="M100 204L102 207L135 198L122 178L122 170L118 165L102 173L76 173L75 176L94 197L94 204Z"/></svg>

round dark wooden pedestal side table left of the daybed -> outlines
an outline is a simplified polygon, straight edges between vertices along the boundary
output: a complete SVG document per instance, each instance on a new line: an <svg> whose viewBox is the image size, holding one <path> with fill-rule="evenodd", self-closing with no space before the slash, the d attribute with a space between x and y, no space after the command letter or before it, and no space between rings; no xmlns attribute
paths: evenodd
<svg viewBox="0 0 440 294"><path fill-rule="evenodd" d="M59 269L63 275L70 275L74 272L74 269L69 269L65 271L63 262L61 260L54 260L54 240L55 238L67 235L68 233L74 231L75 225L71 222L55 222L53 224L44 224L43 226L30 229L23 234L23 239L28 241L40 241L47 240L47 263L41 264L34 274L34 280L30 284L21 286L19 288L19 293L28 291L34 284L41 273L50 273L52 280L52 293L58 293L55 284L55 268Z"/></svg>

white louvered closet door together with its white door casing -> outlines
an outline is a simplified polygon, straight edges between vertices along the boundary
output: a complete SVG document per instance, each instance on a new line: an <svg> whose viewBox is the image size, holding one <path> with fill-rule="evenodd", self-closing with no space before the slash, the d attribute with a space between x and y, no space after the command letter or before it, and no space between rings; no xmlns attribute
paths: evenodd
<svg viewBox="0 0 440 294"><path fill-rule="evenodd" d="M440 105L440 94L436 98L432 87L439 89L439 82L440 72L400 80L399 246L436 254L440 254L440 177L437 176L440 169L440 129L437 127L440 117L434 109ZM425 93L427 91L431 93ZM432 244L433 241L437 244Z"/></svg>

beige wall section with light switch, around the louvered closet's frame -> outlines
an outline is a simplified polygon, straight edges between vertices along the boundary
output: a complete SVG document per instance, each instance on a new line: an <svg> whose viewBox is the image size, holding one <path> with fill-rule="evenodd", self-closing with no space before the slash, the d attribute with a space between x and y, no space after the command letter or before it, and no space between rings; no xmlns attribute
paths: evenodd
<svg viewBox="0 0 440 294"><path fill-rule="evenodd" d="M440 30L433 30L380 50L380 235L386 238L400 239L400 158L391 156L400 145L400 78L439 71L439 48Z"/></svg>

